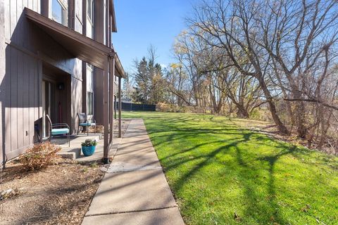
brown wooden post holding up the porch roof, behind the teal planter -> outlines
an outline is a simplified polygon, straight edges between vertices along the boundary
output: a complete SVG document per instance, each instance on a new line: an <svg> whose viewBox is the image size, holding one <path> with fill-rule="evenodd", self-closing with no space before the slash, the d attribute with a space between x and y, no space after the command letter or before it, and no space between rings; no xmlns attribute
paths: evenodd
<svg viewBox="0 0 338 225"><path fill-rule="evenodd" d="M106 60L105 65L106 70L104 70L104 164L109 163L108 153L109 153L109 144L108 144L108 71L109 71L109 57Z"/></svg>

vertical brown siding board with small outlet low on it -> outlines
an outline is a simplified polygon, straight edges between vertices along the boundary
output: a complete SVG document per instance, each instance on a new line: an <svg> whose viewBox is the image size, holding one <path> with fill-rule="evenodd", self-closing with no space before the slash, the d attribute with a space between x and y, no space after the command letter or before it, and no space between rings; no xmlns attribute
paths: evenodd
<svg viewBox="0 0 338 225"><path fill-rule="evenodd" d="M28 65L28 58L29 56L23 56L23 131L24 131L24 146L28 146L30 144L30 70ZM28 135L26 136L25 131L28 131Z"/></svg>

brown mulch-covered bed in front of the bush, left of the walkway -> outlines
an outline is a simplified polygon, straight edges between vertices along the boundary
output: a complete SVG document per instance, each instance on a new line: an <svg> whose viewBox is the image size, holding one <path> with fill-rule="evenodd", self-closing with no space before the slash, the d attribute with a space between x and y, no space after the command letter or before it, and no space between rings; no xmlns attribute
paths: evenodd
<svg viewBox="0 0 338 225"><path fill-rule="evenodd" d="M81 224L104 173L99 165L59 159L39 172L9 162L0 174L0 224Z"/></svg>

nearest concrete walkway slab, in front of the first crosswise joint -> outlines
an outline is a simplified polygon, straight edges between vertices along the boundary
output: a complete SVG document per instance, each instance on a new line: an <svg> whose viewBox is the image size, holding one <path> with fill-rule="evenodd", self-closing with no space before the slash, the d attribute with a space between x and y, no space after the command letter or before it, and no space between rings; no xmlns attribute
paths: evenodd
<svg viewBox="0 0 338 225"><path fill-rule="evenodd" d="M144 212L127 212L123 214L105 214L84 217L82 225L173 225L183 224L177 207Z"/></svg>

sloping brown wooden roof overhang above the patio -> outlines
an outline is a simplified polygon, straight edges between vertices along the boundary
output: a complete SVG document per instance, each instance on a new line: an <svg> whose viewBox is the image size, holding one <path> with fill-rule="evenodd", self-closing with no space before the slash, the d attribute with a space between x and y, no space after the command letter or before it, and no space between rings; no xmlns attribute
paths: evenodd
<svg viewBox="0 0 338 225"><path fill-rule="evenodd" d="M108 46L74 30L70 30L68 27L56 23L29 8L25 8L24 13L28 20L31 20L44 30L44 32L49 34L55 41L75 56L75 58L79 58L97 68L106 70L106 60L108 56L113 57L115 55L113 49Z"/></svg>

